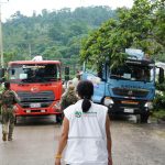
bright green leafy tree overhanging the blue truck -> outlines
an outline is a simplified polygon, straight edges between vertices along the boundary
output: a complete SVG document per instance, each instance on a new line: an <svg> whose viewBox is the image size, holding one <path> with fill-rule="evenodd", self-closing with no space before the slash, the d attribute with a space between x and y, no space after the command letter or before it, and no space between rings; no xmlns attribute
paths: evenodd
<svg viewBox="0 0 165 165"><path fill-rule="evenodd" d="M84 42L81 61L121 64L128 47L140 48L158 59L165 59L164 0L134 0L132 9L118 9L118 19L110 19Z"/></svg>

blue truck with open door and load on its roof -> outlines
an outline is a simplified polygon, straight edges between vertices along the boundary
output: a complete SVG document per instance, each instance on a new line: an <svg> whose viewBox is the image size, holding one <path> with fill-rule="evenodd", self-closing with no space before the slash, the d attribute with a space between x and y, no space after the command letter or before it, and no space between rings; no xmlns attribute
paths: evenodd
<svg viewBox="0 0 165 165"><path fill-rule="evenodd" d="M97 73L97 63L84 66L82 79L94 82L94 102L105 105L110 113L139 114L141 122L147 122L152 100L155 96L155 62L141 50L125 50L124 64L111 69L105 63ZM164 70L158 68L158 82L164 81Z"/></svg>

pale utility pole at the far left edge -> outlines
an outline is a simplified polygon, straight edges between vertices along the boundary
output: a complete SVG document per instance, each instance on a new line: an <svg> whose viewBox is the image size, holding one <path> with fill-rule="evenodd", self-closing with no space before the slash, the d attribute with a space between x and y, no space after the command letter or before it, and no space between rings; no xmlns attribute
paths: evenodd
<svg viewBox="0 0 165 165"><path fill-rule="evenodd" d="M2 41L1 0L0 0L0 56L1 56L1 68L3 68L4 59L3 59L3 41Z"/></svg>

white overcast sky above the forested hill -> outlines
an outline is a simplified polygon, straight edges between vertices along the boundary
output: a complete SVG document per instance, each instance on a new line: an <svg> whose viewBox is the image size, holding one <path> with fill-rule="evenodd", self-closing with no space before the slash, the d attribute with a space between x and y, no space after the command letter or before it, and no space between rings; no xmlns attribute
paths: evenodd
<svg viewBox="0 0 165 165"><path fill-rule="evenodd" d="M116 9L123 6L131 8L133 4L133 0L0 0L0 2L2 21L10 18L15 11L21 11L22 14L31 16L33 11L40 13L42 9L53 11L89 6L109 6Z"/></svg>

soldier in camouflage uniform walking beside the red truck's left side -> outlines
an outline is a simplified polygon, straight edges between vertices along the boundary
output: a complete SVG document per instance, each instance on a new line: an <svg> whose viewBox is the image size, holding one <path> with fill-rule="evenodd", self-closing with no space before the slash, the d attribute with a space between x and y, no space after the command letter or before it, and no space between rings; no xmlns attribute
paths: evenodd
<svg viewBox="0 0 165 165"><path fill-rule="evenodd" d="M2 112L2 140L12 141L15 114L13 106L18 102L18 97L10 89L10 82L4 82L4 90L1 95L1 112ZM8 131L9 130L9 131Z"/></svg>

